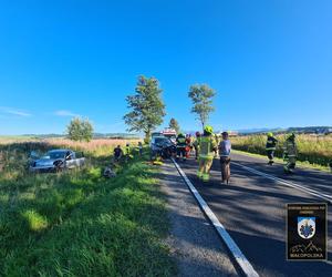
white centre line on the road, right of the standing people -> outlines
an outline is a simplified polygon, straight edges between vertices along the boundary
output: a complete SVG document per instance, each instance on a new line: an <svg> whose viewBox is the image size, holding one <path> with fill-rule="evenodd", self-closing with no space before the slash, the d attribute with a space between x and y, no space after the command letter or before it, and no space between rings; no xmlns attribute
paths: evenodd
<svg viewBox="0 0 332 277"><path fill-rule="evenodd" d="M319 198L322 198L322 199L325 199L325 201L328 201L329 203L332 204L332 195L320 193L320 192L314 191L314 189L309 188L309 187L303 187L303 186L301 186L299 184L295 184L295 183L292 183L292 182L289 182L289 181L282 179L282 178L274 177L273 175L270 175L270 174L267 174L267 173L253 170L251 167L248 167L246 165L242 165L242 164L239 164L239 163L236 163L236 162L231 162L231 163L235 164L235 165L238 165L238 166L242 167L243 170L246 170L248 172L255 173L255 174L263 176L266 178L270 178L270 179L277 181L278 183L280 183L282 185L290 186L290 187L297 188L299 191L302 191L304 193L314 195L314 196L317 196Z"/></svg>

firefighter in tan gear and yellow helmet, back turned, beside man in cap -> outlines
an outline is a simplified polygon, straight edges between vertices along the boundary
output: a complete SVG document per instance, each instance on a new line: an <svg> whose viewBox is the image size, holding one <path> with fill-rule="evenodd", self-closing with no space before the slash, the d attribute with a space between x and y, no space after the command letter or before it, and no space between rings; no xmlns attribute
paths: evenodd
<svg viewBox="0 0 332 277"><path fill-rule="evenodd" d="M214 136L214 130L211 126L205 126L204 134L199 140L199 168L197 172L197 176L204 182L208 182L210 178L210 168L216 148L217 143Z"/></svg>

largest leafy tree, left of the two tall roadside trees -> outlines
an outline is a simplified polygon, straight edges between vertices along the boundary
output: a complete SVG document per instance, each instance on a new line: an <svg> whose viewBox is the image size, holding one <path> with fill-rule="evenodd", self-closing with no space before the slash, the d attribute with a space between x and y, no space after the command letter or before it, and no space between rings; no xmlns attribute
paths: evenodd
<svg viewBox="0 0 332 277"><path fill-rule="evenodd" d="M165 116L158 80L139 76L135 94L128 95L126 101L127 107L132 110L124 116L128 131L144 132L145 141L148 142L152 131L163 123Z"/></svg>

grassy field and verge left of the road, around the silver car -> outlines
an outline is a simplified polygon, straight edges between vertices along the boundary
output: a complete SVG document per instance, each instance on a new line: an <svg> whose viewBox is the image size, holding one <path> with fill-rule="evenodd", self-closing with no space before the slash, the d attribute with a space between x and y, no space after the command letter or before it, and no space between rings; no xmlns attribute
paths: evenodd
<svg viewBox="0 0 332 277"><path fill-rule="evenodd" d="M0 276L172 276L168 220L156 168L146 157L102 177L125 141L0 144ZM27 153L83 150L89 164L60 174L27 172Z"/></svg>

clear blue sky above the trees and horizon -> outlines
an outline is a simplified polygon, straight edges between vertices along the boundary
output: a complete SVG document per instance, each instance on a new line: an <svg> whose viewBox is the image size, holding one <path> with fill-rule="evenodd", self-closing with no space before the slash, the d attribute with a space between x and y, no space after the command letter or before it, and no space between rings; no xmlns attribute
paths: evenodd
<svg viewBox="0 0 332 277"><path fill-rule="evenodd" d="M332 1L2 1L0 134L122 132L139 74L165 123L199 127L188 88L217 91L216 129L332 125Z"/></svg>

